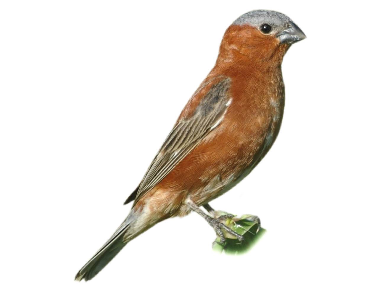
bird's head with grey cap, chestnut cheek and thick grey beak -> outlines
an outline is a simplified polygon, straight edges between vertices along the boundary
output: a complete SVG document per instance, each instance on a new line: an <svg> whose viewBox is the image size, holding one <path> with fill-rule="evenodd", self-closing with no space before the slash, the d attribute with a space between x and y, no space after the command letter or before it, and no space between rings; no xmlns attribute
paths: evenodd
<svg viewBox="0 0 390 293"><path fill-rule="evenodd" d="M225 62L234 61L234 57L281 62L287 49L305 38L302 30L287 15L254 10L241 15L226 30L220 57Z"/></svg>

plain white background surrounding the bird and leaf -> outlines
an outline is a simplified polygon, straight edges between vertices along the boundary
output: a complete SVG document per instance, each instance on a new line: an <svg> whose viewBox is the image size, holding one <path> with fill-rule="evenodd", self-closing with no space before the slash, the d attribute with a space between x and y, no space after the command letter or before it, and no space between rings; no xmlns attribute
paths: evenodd
<svg viewBox="0 0 390 293"><path fill-rule="evenodd" d="M2 1L2 292L388 292L388 21L379 2ZM197 214L159 223L90 282L81 266L127 215L240 14L307 35L282 66L285 116L265 159L212 203L268 230L211 250Z"/></svg>

